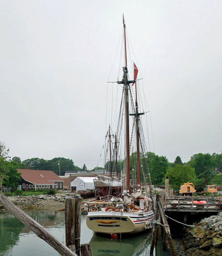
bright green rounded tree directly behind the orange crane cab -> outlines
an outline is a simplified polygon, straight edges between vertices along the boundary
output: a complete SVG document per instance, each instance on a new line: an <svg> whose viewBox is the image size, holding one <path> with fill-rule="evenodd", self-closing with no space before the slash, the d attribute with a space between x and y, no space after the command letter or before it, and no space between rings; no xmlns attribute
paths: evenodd
<svg viewBox="0 0 222 256"><path fill-rule="evenodd" d="M182 165L182 164L175 164L174 167L171 167L167 170L166 175L163 181L169 178L170 186L173 189L180 188L180 185L184 184L185 182L191 182L191 180L195 179L195 170L189 164Z"/></svg>

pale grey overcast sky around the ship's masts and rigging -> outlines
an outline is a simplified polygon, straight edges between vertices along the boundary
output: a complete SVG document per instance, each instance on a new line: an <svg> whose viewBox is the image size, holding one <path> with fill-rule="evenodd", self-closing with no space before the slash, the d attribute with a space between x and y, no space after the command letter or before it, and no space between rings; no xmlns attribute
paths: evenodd
<svg viewBox="0 0 222 256"><path fill-rule="evenodd" d="M0 2L0 140L11 156L93 168L122 13L152 117L150 150L221 153L221 1Z"/></svg>

